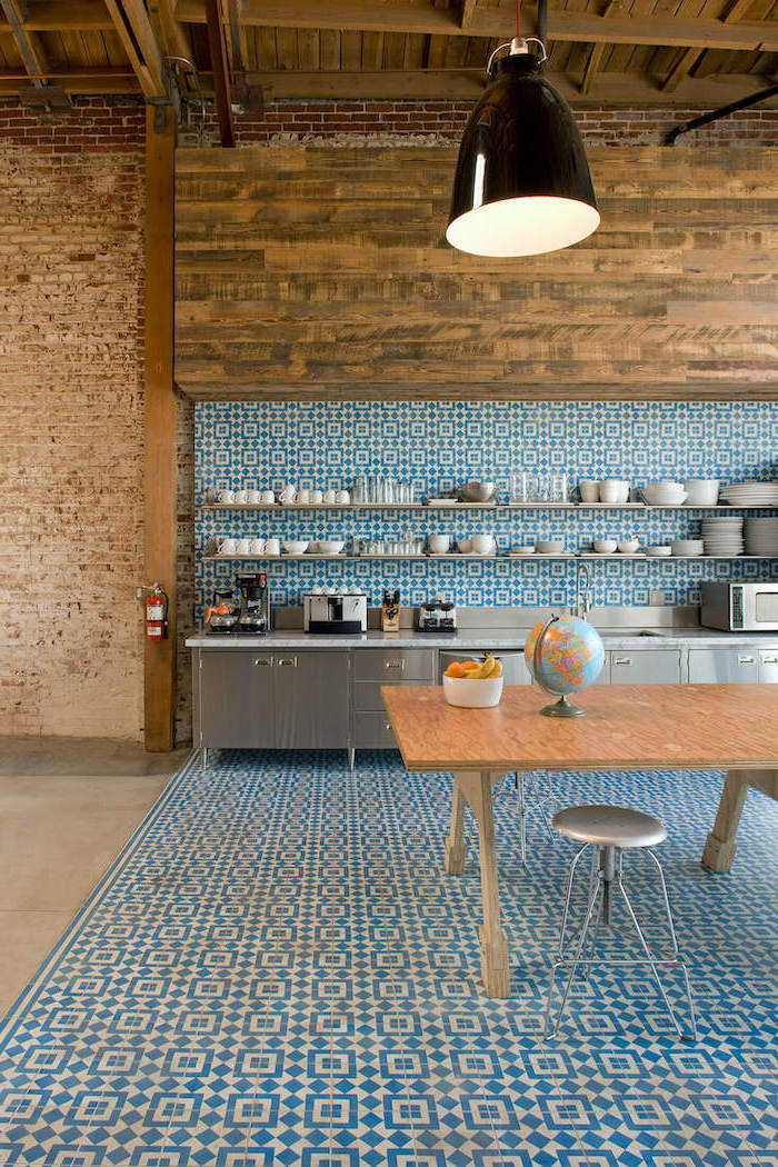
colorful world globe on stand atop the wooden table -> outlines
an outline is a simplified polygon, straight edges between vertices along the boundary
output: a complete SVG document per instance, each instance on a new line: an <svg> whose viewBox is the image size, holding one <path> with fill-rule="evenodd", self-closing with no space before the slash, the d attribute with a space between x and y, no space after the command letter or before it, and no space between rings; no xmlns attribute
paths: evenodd
<svg viewBox="0 0 778 1167"><path fill-rule="evenodd" d="M540 687L560 698L541 712L547 717L582 717L584 711L568 701L567 694L586 689L600 676L605 650L597 630L579 616L552 616L532 629L524 655Z"/></svg>

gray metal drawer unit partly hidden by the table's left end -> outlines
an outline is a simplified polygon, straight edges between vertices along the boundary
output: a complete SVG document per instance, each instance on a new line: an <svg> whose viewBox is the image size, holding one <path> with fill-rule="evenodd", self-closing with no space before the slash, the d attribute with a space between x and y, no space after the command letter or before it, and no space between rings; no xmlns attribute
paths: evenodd
<svg viewBox="0 0 778 1167"><path fill-rule="evenodd" d="M381 685L434 685L436 649L355 649L353 745L394 749L397 742L381 698Z"/></svg>

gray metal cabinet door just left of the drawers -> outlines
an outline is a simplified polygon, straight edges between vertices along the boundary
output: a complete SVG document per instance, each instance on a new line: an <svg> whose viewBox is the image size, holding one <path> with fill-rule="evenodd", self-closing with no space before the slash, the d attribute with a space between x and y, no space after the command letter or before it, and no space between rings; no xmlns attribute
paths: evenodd
<svg viewBox="0 0 778 1167"><path fill-rule="evenodd" d="M275 745L280 749L349 746L349 654L276 652Z"/></svg>

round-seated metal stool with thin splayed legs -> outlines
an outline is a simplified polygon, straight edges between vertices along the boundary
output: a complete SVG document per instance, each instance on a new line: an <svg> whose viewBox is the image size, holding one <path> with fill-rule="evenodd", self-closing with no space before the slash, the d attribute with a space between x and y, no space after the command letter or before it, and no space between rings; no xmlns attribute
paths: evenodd
<svg viewBox="0 0 778 1167"><path fill-rule="evenodd" d="M614 903L614 895L618 893L624 901L628 915L632 922L632 927L637 934L637 938L643 950L643 957L624 958L617 960L610 960L614 965L638 965L647 964L651 967L651 972L657 983L657 987L665 1004L667 1012L672 1019L675 1029L680 1037L688 1036L684 1033L678 1018L673 1011L670 999L665 991L665 986L661 983L659 976L659 969L664 965L674 965L681 970L684 977L684 985L686 987L686 998L688 1000L689 1007L689 1019L691 1019L691 1037L696 1041L696 1021L694 1016L694 1004L692 1001L692 991L689 988L689 978L686 971L686 965L681 960L678 952L678 941L675 939L675 928L673 925L673 916L670 910L670 900L667 897L667 886L665 883L665 875L663 873L659 860L650 850L654 847L658 843L664 843L667 838L667 831L659 822L658 818L653 818L651 815L643 815L640 811L630 810L626 806L568 806L566 810L559 811L554 815L553 827L559 831L560 834L567 836L569 839L576 839L583 843L583 846L575 855L570 865L570 874L567 881L567 896L565 899L565 911L562 914L562 927L559 937L559 956L554 963L551 973L551 983L548 985L548 998L546 1000L546 1022L544 1035L546 1037L554 1036L559 1029L560 1021L562 1019L562 1013L567 1004L567 998L570 992L570 986L573 984L573 978L575 977L576 970L579 967L583 969L584 976L588 976L589 969L593 964L597 963L595 960L595 948L597 944L597 931L600 924L605 927L610 925L611 907ZM589 893L587 910L583 917L583 923L581 928L570 936L569 941L566 941L567 934L567 917L570 908L570 895L573 892L573 878L575 875L575 869L584 854L586 851L591 848L591 874L589 876ZM649 855L654 864L657 871L659 872L659 882L661 886L661 895L665 903L665 913L667 916L667 927L670 930L670 957L657 957L649 948L643 930L638 923L635 909L632 908L632 902L626 894L626 888L622 882L622 864L624 851L642 850L644 854ZM594 927L593 927L594 923ZM583 956L583 950L586 948L587 938L589 937L591 930L591 946L588 957ZM568 949L573 949L573 955L567 956ZM556 984L556 972L560 967L569 969L567 976L567 983L565 985L565 992L562 994L562 1001L556 1014L553 1028L549 1032L551 1021L551 1006L552 998L554 994L554 988Z"/></svg>

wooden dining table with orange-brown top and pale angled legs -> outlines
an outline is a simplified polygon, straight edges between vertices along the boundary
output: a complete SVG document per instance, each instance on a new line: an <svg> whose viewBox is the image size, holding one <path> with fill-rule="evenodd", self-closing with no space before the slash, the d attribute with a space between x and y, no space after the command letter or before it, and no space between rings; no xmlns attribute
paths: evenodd
<svg viewBox="0 0 778 1167"><path fill-rule="evenodd" d="M510 994L500 923L492 787L518 770L726 770L703 862L727 869L749 785L778 797L778 686L595 685L576 697L581 718L546 718L535 686L506 686L499 705L458 708L440 686L385 685L384 704L411 771L454 771L446 872L464 871L464 809L478 822L486 994ZM594 791L593 791L594 795ZM593 797L593 801L596 798Z"/></svg>

